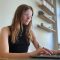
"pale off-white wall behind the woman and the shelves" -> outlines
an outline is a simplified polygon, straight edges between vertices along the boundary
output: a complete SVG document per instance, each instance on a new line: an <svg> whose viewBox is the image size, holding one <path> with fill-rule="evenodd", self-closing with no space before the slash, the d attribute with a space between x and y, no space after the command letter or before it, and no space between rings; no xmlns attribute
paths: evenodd
<svg viewBox="0 0 60 60"><path fill-rule="evenodd" d="M16 10L17 6L20 4L28 4L31 5L34 9L34 16L33 16L33 27L32 30L36 36L37 41L43 47L53 49L53 36L51 32L44 31L42 29L38 29L36 27L37 24L44 23L47 27L52 27L51 24L48 24L44 20L40 19L37 14L40 8L37 6L38 0L0 0L0 28L10 25L12 22L12 18L14 15L14 11ZM30 45L29 51L34 50L34 46Z"/></svg>

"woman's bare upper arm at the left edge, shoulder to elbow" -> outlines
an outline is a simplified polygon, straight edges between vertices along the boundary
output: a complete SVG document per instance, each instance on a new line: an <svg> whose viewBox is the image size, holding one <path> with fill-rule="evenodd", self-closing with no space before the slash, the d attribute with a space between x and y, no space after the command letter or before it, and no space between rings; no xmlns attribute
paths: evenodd
<svg viewBox="0 0 60 60"><path fill-rule="evenodd" d="M0 39L0 52L9 53L8 35L9 29L7 27L2 28Z"/></svg>

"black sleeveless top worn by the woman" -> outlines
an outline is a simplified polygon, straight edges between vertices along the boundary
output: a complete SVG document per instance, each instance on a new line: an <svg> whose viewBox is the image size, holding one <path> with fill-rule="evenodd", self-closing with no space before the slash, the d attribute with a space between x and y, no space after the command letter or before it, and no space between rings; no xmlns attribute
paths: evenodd
<svg viewBox="0 0 60 60"><path fill-rule="evenodd" d="M9 40L9 52L11 53L25 53L28 51L28 47L30 42L28 42L25 38L25 30L23 30L22 35L20 33L18 35L18 40L16 43L12 43L11 36L8 38Z"/></svg>

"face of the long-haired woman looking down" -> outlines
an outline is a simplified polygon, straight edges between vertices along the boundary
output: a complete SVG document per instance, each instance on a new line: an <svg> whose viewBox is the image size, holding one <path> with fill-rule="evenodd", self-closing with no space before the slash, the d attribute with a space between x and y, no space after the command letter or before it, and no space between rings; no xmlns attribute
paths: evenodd
<svg viewBox="0 0 60 60"><path fill-rule="evenodd" d="M28 9L24 11L22 14L22 24L28 25L31 20L32 20L32 10Z"/></svg>

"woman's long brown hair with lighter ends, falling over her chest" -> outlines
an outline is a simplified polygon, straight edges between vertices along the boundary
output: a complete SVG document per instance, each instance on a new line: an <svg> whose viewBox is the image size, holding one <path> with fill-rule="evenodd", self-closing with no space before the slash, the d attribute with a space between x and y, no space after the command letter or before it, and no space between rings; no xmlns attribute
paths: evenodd
<svg viewBox="0 0 60 60"><path fill-rule="evenodd" d="M12 36L12 42L15 43L18 37L19 32L23 31L23 24L21 22L21 17L22 17L22 13L28 9L32 10L32 16L33 16L33 9L31 6L28 6L26 4L22 4L20 5L15 12L14 18L13 18L13 22L11 25L11 36ZM28 26L26 26L26 39L30 40L31 39L31 24L32 24L32 20L29 22Z"/></svg>

